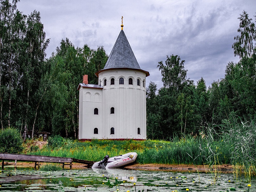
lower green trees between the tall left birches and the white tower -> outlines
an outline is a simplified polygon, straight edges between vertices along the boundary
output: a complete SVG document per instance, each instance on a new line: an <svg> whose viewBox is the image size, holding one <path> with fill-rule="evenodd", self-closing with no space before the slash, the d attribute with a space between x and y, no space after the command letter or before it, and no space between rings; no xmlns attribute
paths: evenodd
<svg viewBox="0 0 256 192"><path fill-rule="evenodd" d="M107 54L103 47L97 50L88 45L75 48L69 39L62 39L56 53L47 61L50 69L46 81L49 90L46 92L45 105L48 108L52 123L52 134L65 137L78 135L79 92L77 87L82 83L82 76L88 75L89 83L98 84L94 73L104 68ZM49 106L47 103L51 103Z"/></svg>

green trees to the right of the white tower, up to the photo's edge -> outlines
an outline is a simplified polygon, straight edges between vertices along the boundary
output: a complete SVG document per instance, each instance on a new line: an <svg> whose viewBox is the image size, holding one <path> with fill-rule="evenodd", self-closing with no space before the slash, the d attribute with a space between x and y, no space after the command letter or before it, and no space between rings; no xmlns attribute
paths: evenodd
<svg viewBox="0 0 256 192"><path fill-rule="evenodd" d="M188 79L185 61L177 55L158 63L163 87L157 90L154 82L147 87L147 138L172 140L176 135L205 133L209 126L234 118L255 118L256 27L245 11L238 19L240 35L232 48L240 60L228 63L225 77L210 87L203 78L196 85Z"/></svg>

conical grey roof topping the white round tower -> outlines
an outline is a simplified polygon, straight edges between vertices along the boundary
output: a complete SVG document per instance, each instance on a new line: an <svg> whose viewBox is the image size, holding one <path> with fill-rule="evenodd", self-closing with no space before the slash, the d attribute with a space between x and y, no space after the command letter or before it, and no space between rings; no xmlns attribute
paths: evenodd
<svg viewBox="0 0 256 192"><path fill-rule="evenodd" d="M113 68L140 69L123 30L121 30L104 67L104 69Z"/></svg>

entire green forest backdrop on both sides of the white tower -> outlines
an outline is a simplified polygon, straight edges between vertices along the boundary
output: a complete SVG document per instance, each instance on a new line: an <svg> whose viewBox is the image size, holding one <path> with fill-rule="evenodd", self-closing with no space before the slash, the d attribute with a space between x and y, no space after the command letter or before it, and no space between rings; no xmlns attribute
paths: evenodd
<svg viewBox="0 0 256 192"><path fill-rule="evenodd" d="M23 140L27 131L78 138L78 84L88 74L103 69L107 54L103 46L75 47L62 39L46 58L46 38L40 13L24 15L18 0L0 4L0 126L15 127ZM244 11L239 17L240 35L232 45L238 63L227 64L225 78L206 87L187 78L177 55L158 63L163 87L150 82L146 89L147 137L169 140L174 135L198 135L213 123L235 116L254 117L256 111L255 23Z"/></svg>

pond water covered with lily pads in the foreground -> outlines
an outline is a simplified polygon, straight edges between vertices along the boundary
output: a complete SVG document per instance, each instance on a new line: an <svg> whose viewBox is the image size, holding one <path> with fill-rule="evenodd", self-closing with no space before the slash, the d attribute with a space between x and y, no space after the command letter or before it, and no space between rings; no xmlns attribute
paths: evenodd
<svg viewBox="0 0 256 192"><path fill-rule="evenodd" d="M84 169L63 171L2 170L0 191L28 192L226 192L248 191L244 178L233 174L134 171L123 169ZM135 183L135 184L134 184ZM251 181L250 192L256 191L256 180Z"/></svg>

